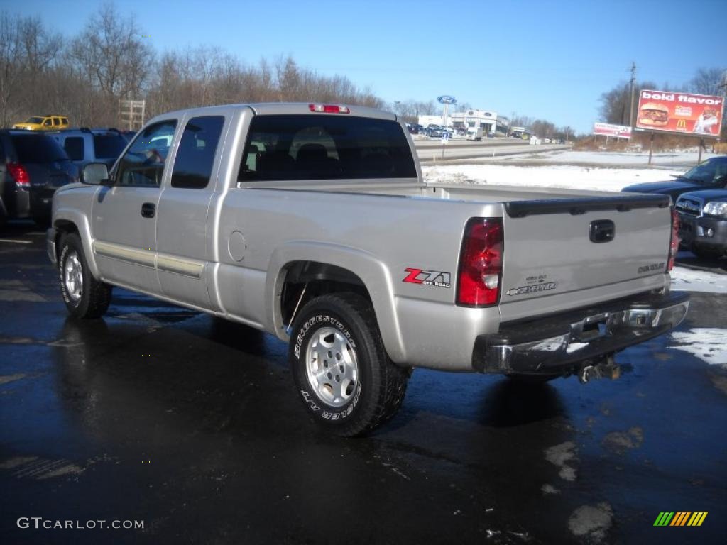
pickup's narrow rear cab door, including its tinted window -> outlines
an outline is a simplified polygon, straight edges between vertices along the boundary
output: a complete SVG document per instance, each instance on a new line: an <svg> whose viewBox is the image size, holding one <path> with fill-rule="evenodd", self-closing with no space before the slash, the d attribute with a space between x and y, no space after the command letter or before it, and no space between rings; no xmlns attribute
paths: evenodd
<svg viewBox="0 0 727 545"><path fill-rule="evenodd" d="M172 174L158 207L157 267L162 293L172 299L212 308L207 285L214 233L207 217L220 169L225 116L185 119Z"/></svg>

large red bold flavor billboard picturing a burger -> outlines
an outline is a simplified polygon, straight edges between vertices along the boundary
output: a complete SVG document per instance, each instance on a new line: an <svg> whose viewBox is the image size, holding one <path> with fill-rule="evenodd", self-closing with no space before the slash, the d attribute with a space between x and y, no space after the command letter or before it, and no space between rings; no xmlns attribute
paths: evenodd
<svg viewBox="0 0 727 545"><path fill-rule="evenodd" d="M636 127L717 138L723 110L723 97L645 90L638 97Z"/></svg>

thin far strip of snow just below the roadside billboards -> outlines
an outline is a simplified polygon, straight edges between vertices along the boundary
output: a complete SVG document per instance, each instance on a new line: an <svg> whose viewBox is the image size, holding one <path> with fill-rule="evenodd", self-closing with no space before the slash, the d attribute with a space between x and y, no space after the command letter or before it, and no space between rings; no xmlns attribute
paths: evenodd
<svg viewBox="0 0 727 545"><path fill-rule="evenodd" d="M702 152L702 161L716 157L718 154ZM699 157L699 150L681 150L654 153L651 156L651 163L659 164L683 164L694 165ZM507 161L508 159L505 159ZM602 165L643 165L648 166L648 151L646 152L618 152L618 151L573 151L554 150L530 155L511 156L511 161L526 163L536 161L539 163L595 163Z"/></svg>

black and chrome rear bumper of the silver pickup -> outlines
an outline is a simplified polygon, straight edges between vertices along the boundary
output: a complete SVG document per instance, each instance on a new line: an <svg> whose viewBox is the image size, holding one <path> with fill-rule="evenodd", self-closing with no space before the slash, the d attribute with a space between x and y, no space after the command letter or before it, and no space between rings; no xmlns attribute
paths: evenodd
<svg viewBox="0 0 727 545"><path fill-rule="evenodd" d="M684 319L688 307L689 296L676 292L505 324L497 334L478 336L473 368L483 373L565 373L666 333Z"/></svg>

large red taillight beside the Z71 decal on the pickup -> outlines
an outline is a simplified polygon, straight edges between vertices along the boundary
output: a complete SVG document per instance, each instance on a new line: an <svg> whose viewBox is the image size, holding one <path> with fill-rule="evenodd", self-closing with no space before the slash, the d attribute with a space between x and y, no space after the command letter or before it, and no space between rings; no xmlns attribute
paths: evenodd
<svg viewBox="0 0 727 545"><path fill-rule="evenodd" d="M502 280L502 219L472 218L459 254L457 304L496 304Z"/></svg>

